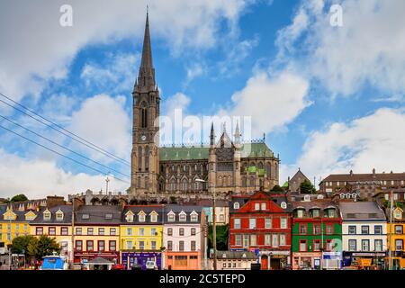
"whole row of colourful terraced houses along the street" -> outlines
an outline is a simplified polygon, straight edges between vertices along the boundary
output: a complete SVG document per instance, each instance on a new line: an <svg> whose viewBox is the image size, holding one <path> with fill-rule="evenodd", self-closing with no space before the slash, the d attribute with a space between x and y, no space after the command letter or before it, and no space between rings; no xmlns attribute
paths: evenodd
<svg viewBox="0 0 405 288"><path fill-rule="evenodd" d="M81 205L74 215L71 204L27 211L1 206L0 241L6 247L17 236L49 235L76 266L103 257L127 269L145 268L147 261L157 269L203 269L212 266L204 262L205 220L211 219L205 206ZM222 216L228 223L220 223L229 225L229 249L217 253L218 269L252 263L261 269L383 269L390 247L392 267L405 268L399 205L390 217L378 201L259 191L233 196L217 209L229 211Z"/></svg>

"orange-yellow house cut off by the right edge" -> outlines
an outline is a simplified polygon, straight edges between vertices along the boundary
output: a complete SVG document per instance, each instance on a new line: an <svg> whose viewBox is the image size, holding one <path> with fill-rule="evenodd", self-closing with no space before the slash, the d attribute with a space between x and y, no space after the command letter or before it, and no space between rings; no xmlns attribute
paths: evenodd
<svg viewBox="0 0 405 288"><path fill-rule="evenodd" d="M405 213L400 207L392 211L392 223L388 223L388 245L392 248L392 267L405 268ZM388 259L387 259L388 260Z"/></svg>

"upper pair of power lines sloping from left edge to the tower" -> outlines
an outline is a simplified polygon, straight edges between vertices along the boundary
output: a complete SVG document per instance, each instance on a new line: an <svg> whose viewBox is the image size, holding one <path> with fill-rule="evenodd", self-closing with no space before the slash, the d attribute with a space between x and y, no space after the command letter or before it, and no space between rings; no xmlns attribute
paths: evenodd
<svg viewBox="0 0 405 288"><path fill-rule="evenodd" d="M82 144L82 145L85 145L86 147L91 148L91 149L93 149L94 151L97 151L97 152L99 152L99 153L102 153L104 156L112 157L114 160L120 161L121 163L130 166L130 162L128 162L127 160L125 160L125 159L123 159L123 158L121 158L121 157L117 157L117 156L113 155L112 153L110 153L110 152L104 150L103 148L98 147L98 146L95 145L94 143L92 143L92 142L90 142L90 141L87 141L86 139L83 139L82 137L76 135L75 133L73 133L73 132L71 132L71 131L69 131L69 130L66 130L66 129L63 128L62 126L58 125L57 123L55 123L55 122L53 122L53 121L50 121L50 120L46 119L45 117L41 116L41 115L38 114L37 112L33 112L31 109L25 107L23 104L18 103L18 102L15 102L15 101L14 101L13 99L11 99L10 97L7 97L6 95L4 95L4 94L2 94L2 93L0 93L0 95L3 96L4 98L8 99L9 101L15 103L16 105L22 107L23 109L25 109L25 110L27 110L27 111L33 113L34 115L40 117L40 119L42 119L42 120L44 120L44 121L48 121L48 122L51 123L52 125L58 127L58 129L60 129L60 130L56 129L55 127L53 127L52 125L49 125L48 123L46 123L46 122L44 122L44 121L40 121L40 119L37 119L37 118L33 117L31 114L29 114L29 113L27 113L27 112L24 112L23 110L14 107L14 105L12 105L12 104L10 104L10 103L6 103L6 102L4 102L3 100L0 99L0 102L2 102L2 103L4 103L4 104L6 104L6 105L12 107L12 108L15 109L16 111L22 112L23 114L29 116L31 119L33 119L33 120L35 120L35 121L39 121L40 123L42 123L43 125L49 127L50 129L56 130L56 131L58 131L59 133L61 133L61 134L65 135L65 136L67 136L68 138L74 139L76 142L78 142L78 143L80 143L80 144ZM66 133L63 132L63 131L66 131ZM76 138L70 136L69 134L75 136Z"/></svg>

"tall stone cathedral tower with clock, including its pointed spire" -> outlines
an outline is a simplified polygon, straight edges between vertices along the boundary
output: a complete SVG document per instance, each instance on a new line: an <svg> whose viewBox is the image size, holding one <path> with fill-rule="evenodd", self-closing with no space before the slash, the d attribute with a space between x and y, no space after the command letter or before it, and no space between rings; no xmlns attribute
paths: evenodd
<svg viewBox="0 0 405 288"><path fill-rule="evenodd" d="M157 193L159 172L158 116L159 91L152 62L148 14L143 40L142 59L133 96L132 152L130 193Z"/></svg>

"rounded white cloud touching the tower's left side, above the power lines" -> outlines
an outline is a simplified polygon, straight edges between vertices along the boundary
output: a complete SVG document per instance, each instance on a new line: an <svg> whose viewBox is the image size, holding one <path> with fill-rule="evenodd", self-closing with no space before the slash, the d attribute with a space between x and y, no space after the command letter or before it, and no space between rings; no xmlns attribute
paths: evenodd
<svg viewBox="0 0 405 288"><path fill-rule="evenodd" d="M129 159L131 121L124 106L124 96L112 98L106 94L98 94L87 98L80 109L73 112L67 130L118 157ZM76 145L76 148L83 150L85 147ZM93 150L87 148L86 151L95 159L111 161Z"/></svg>

